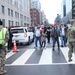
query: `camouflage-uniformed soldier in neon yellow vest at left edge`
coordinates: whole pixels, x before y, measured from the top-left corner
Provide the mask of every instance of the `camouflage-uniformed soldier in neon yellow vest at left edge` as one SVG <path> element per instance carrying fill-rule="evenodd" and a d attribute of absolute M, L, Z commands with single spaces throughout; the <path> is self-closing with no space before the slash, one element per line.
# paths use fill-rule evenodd
<path fill-rule="evenodd" d="M 3 23 L 0 20 L 0 74 L 4 74 L 7 71 L 4 70 L 7 46 L 8 46 L 9 33 L 6 28 L 3 27 Z"/>

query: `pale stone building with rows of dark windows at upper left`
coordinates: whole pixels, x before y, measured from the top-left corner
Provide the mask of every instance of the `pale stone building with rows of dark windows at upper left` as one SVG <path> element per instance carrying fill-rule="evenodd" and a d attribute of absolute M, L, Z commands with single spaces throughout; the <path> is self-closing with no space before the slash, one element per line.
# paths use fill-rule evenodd
<path fill-rule="evenodd" d="M 29 26 L 29 0 L 0 0 L 0 19 L 5 27 Z"/>

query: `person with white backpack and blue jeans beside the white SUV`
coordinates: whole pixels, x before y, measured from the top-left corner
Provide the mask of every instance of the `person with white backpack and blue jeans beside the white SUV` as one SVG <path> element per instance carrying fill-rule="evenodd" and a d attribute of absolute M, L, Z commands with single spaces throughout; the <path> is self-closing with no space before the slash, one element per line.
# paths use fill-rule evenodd
<path fill-rule="evenodd" d="M 40 48 L 42 48 L 42 41 L 41 41 L 41 30 L 40 25 L 38 25 L 35 29 L 35 48 L 37 48 L 37 42 L 39 41 Z"/>

